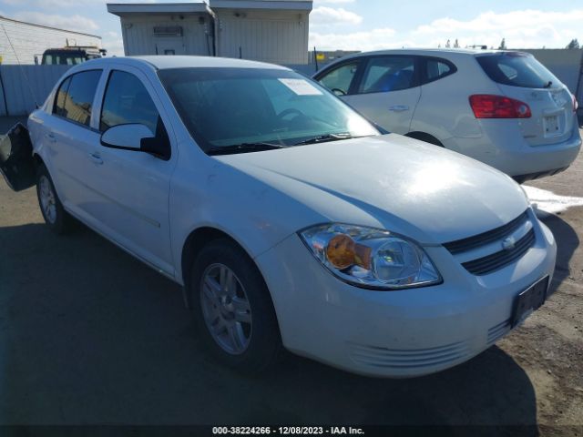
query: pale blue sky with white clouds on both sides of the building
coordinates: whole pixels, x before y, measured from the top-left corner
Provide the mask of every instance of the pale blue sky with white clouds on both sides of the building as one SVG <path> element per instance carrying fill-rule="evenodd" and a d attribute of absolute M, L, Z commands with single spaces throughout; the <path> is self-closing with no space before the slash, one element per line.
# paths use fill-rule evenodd
<path fill-rule="evenodd" d="M 583 42 L 580 0 L 314 0 L 313 7 L 310 46 L 319 50 L 436 47 L 456 38 L 460 46 L 498 46 L 504 37 L 514 48 Z M 99 35 L 109 54 L 123 54 L 119 19 L 104 0 L 0 0 L 0 15 Z"/>

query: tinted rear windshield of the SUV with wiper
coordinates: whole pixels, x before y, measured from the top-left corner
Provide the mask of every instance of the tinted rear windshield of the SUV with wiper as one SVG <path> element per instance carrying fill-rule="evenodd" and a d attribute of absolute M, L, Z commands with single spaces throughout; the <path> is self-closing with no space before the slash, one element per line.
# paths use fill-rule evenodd
<path fill-rule="evenodd" d="M 486 75 L 498 84 L 524 88 L 557 87 L 559 81 L 534 56 L 505 53 L 476 57 Z"/>

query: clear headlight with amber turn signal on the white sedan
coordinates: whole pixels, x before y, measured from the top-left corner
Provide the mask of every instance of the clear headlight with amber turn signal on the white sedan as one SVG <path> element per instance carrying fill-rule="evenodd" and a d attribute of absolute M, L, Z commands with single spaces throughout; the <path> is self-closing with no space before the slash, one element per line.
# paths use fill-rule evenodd
<path fill-rule="evenodd" d="M 332 223 L 300 236 L 327 269 L 359 287 L 399 290 L 441 282 L 424 249 L 388 230 Z"/>

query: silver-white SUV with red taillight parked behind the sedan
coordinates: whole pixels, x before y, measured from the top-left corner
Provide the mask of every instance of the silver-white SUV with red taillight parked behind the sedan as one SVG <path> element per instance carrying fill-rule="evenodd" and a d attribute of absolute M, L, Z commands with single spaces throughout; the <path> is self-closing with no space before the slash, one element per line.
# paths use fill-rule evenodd
<path fill-rule="evenodd" d="M 314 78 L 378 126 L 518 181 L 568 168 L 581 146 L 575 97 L 527 53 L 386 50 L 343 57 Z"/>

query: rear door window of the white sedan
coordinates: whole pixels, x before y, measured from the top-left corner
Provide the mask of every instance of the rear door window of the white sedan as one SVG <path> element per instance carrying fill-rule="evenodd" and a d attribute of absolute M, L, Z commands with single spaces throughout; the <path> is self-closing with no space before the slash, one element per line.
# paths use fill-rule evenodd
<path fill-rule="evenodd" d="M 83 71 L 68 77 L 56 93 L 53 113 L 88 127 L 99 77 L 101 70 Z"/>

